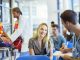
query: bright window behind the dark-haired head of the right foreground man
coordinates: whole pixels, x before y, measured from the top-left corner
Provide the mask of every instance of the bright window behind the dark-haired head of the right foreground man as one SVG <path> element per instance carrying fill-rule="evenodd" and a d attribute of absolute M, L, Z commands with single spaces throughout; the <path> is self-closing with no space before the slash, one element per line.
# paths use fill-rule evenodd
<path fill-rule="evenodd" d="M 57 0 L 59 1 L 59 3 L 57 5 L 59 5 L 59 17 L 60 17 L 60 13 L 62 13 L 64 10 L 72 10 L 73 9 L 73 0 Z M 58 18 L 59 18 L 58 17 Z M 61 20 L 58 19 L 58 24 L 60 26 L 60 32 L 62 33 L 62 30 L 64 29 L 64 26 L 61 23 Z"/>

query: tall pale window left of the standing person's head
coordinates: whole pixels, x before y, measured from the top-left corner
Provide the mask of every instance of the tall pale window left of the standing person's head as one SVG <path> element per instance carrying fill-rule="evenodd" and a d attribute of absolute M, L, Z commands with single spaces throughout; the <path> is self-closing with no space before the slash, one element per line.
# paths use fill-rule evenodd
<path fill-rule="evenodd" d="M 3 27 L 6 33 L 11 32 L 11 23 L 10 23 L 10 6 L 9 0 L 2 0 L 2 19 L 3 19 Z"/>

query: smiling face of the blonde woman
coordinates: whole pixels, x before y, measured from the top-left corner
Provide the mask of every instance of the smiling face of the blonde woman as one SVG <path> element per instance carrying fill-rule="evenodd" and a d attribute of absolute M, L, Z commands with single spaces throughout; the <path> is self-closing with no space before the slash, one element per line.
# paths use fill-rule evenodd
<path fill-rule="evenodd" d="M 44 38 L 48 34 L 48 27 L 46 25 L 41 25 L 38 28 L 38 37 Z"/>

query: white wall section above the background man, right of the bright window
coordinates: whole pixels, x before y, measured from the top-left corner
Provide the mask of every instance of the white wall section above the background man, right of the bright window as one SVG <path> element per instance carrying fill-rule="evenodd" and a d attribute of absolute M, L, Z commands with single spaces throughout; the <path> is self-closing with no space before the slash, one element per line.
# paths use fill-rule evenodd
<path fill-rule="evenodd" d="M 48 20 L 57 23 L 57 0 L 47 0 Z"/>

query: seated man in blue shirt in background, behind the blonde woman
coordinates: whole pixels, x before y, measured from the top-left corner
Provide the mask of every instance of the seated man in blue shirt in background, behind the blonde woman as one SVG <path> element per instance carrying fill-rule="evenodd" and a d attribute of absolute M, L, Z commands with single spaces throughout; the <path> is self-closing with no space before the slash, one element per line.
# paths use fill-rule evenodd
<path fill-rule="evenodd" d="M 50 37 L 53 48 L 59 51 L 65 47 L 65 38 L 59 33 L 59 26 L 57 24 L 51 24 L 52 35 Z"/>

